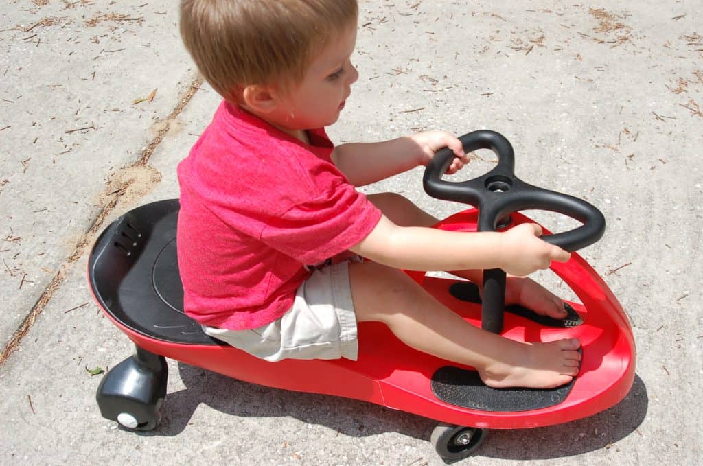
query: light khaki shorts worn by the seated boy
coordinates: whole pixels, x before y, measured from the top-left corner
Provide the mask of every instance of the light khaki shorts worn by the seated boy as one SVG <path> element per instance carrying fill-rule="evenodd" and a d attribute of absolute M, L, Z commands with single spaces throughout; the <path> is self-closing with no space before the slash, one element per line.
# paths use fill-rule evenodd
<path fill-rule="evenodd" d="M 338 359 L 356 361 L 356 314 L 349 262 L 317 268 L 295 293 L 291 309 L 277 321 L 252 330 L 202 325 L 211 337 L 266 361 Z"/>

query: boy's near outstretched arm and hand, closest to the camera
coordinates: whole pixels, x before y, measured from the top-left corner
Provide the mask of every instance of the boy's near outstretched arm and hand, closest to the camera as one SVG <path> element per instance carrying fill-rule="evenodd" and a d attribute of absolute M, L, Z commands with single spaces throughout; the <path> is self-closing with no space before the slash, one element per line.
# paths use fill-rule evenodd
<path fill-rule="evenodd" d="M 565 262 L 571 254 L 539 239 L 536 224 L 521 224 L 505 233 L 465 233 L 424 227 L 401 227 L 382 216 L 352 252 L 380 264 L 406 270 L 452 271 L 502 268 L 525 276 Z"/>

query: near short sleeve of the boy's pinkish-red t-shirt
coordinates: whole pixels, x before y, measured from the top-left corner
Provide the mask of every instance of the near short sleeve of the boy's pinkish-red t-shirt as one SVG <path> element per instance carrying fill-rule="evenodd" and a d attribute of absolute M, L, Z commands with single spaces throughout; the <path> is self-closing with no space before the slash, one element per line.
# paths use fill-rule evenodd
<path fill-rule="evenodd" d="M 261 240 L 303 264 L 316 264 L 366 238 L 380 218 L 363 193 L 339 183 L 270 220 Z"/>

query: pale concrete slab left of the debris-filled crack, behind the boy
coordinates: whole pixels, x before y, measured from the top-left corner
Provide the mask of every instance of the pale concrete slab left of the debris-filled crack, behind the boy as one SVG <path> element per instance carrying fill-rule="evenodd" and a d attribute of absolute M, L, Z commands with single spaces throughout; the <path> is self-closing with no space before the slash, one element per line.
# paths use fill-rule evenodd
<path fill-rule="evenodd" d="M 146 127 L 176 108 L 195 74 L 171 2 L 17 0 L 2 8 L 5 346 L 103 210 L 96 198 L 105 179 L 141 157 L 152 139 Z M 174 46 L 160 46 L 168 41 Z M 152 101 L 134 103 L 153 89 Z"/>

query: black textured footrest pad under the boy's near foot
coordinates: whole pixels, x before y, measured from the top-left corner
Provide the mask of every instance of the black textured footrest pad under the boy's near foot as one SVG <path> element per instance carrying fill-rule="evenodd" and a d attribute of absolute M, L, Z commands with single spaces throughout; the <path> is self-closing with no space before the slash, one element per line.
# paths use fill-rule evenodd
<path fill-rule="evenodd" d="M 512 413 L 548 408 L 564 401 L 576 377 L 555 389 L 494 389 L 486 386 L 475 370 L 451 365 L 432 375 L 432 391 L 445 403 L 494 413 Z"/>

